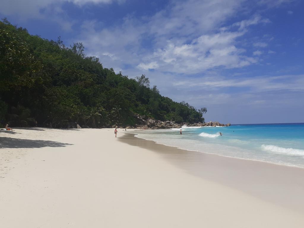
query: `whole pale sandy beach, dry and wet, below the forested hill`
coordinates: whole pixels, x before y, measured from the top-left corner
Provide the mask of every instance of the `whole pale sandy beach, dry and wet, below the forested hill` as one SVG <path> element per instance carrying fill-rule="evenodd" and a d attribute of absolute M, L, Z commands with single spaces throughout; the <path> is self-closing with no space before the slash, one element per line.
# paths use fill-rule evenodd
<path fill-rule="evenodd" d="M 3 227 L 303 227 L 304 169 L 180 150 L 134 130 L 0 132 Z"/>

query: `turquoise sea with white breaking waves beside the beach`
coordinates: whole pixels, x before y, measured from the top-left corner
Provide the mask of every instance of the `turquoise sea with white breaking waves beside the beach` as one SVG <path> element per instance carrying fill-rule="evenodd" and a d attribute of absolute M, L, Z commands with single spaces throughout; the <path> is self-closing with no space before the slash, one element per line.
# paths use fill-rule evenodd
<path fill-rule="evenodd" d="M 179 130 L 142 130 L 136 137 L 186 150 L 304 168 L 304 123 L 183 126 L 182 135 Z"/>

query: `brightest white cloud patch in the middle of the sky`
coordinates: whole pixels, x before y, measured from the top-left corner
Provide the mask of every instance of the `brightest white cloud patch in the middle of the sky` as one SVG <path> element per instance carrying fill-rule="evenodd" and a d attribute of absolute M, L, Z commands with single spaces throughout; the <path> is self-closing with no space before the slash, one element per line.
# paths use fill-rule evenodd
<path fill-rule="evenodd" d="M 254 58 L 243 55 L 244 50 L 233 43 L 242 36 L 242 32 L 220 32 L 202 35 L 190 44 L 177 45 L 171 41 L 164 48 L 158 49 L 153 56 L 163 71 L 176 73 L 198 73 L 213 67 L 244 67 L 256 63 Z"/>

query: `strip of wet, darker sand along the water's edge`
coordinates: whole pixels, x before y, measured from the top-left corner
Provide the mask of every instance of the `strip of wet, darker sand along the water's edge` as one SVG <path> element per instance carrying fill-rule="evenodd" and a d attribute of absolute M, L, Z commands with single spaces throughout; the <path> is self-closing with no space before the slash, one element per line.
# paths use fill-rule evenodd
<path fill-rule="evenodd" d="M 126 133 L 119 140 L 161 154 L 165 160 L 192 175 L 304 213 L 303 168 L 187 150 L 135 135 Z"/>

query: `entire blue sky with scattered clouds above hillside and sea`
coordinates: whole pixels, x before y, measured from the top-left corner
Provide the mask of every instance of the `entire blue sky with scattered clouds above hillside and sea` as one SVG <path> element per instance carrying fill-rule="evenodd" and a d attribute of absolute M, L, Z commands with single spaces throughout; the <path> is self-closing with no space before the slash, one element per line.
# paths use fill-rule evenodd
<path fill-rule="evenodd" d="M 2 0 L 1 18 L 66 46 L 205 121 L 304 122 L 302 0 Z"/>

